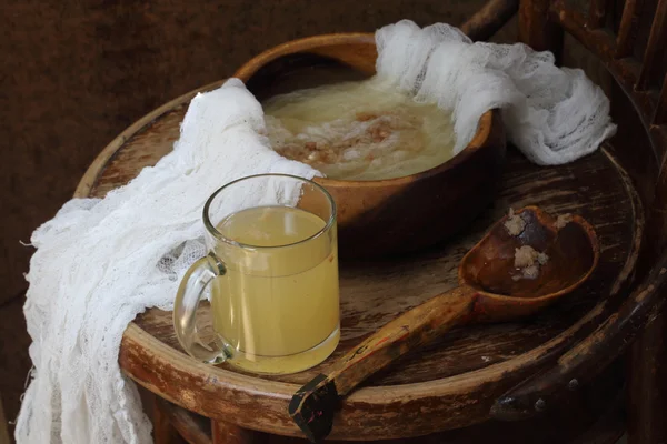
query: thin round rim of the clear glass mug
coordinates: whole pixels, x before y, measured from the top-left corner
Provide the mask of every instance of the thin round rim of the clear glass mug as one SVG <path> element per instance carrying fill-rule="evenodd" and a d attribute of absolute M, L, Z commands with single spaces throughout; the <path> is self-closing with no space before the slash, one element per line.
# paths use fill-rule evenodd
<path fill-rule="evenodd" d="M 210 206 L 213 202 L 213 200 L 218 196 L 218 194 L 220 194 L 222 191 L 227 190 L 228 188 L 239 183 L 239 182 L 245 182 L 251 179 L 258 179 L 258 178 L 286 178 L 286 179 L 296 179 L 300 182 L 313 185 L 315 189 L 319 190 L 326 198 L 327 198 L 327 202 L 329 202 L 329 208 L 331 209 L 331 214 L 329 215 L 329 220 L 327 220 L 327 222 L 325 223 L 325 226 L 322 226 L 319 231 L 317 231 L 316 233 L 309 235 L 306 239 L 301 239 L 300 241 L 297 242 L 292 242 L 292 243 L 286 243 L 286 244 L 280 244 L 280 245 L 270 245 L 270 246 L 261 246 L 261 245 L 252 245 L 252 244 L 248 244 L 248 243 L 243 243 L 243 242 L 239 242 L 239 241 L 235 241 L 233 239 L 227 238 L 222 233 L 220 233 L 217 229 L 216 225 L 213 223 L 211 223 L 211 220 L 209 218 L 209 210 Z M 236 179 L 229 183 L 226 183 L 225 185 L 220 186 L 218 190 L 216 190 L 206 201 L 206 204 L 203 205 L 203 225 L 206 228 L 206 230 L 213 236 L 216 238 L 216 240 L 225 242 L 228 245 L 232 245 L 232 246 L 238 246 L 240 249 L 247 249 L 247 250 L 272 250 L 272 249 L 283 249 L 287 246 L 293 246 L 293 245 L 299 245 L 306 242 L 310 242 L 312 240 L 316 240 L 318 238 L 320 238 L 321 235 L 323 235 L 325 233 L 327 233 L 330 229 L 331 225 L 334 225 L 336 223 L 336 218 L 337 218 L 337 208 L 336 208 L 336 201 L 334 200 L 334 198 L 331 196 L 331 194 L 329 193 L 329 191 L 327 191 L 326 188 L 323 188 L 322 185 L 320 185 L 319 183 L 310 180 L 310 179 L 306 179 L 306 178 L 300 178 L 298 175 L 293 175 L 293 174 L 283 174 L 283 173 L 261 173 L 261 174 L 252 174 L 252 175 L 246 175 L 239 179 Z"/>

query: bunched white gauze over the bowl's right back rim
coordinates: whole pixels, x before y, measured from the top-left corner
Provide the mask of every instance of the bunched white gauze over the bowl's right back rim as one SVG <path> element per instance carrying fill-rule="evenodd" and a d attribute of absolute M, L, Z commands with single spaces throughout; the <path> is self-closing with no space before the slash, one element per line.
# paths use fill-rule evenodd
<path fill-rule="evenodd" d="M 522 43 L 472 43 L 459 29 L 409 20 L 376 32 L 378 75 L 452 111 L 455 152 L 475 135 L 481 114 L 500 108 L 509 140 L 532 162 L 555 165 L 597 150 L 616 133 L 609 100 L 580 69 Z"/>

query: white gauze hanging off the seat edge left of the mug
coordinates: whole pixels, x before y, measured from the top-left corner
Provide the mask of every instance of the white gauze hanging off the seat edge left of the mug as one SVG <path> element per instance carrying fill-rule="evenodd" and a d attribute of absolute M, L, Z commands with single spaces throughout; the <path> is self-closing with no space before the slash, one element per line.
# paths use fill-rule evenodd
<path fill-rule="evenodd" d="M 171 310 L 185 270 L 205 254 L 201 209 L 246 175 L 303 178 L 310 167 L 278 155 L 261 105 L 238 79 L 197 95 L 173 151 L 104 199 L 74 199 L 32 234 L 24 306 L 32 381 L 18 443 L 151 443 L 135 384 L 118 352 L 147 307 Z M 239 193 L 230 209 L 259 193 Z"/>

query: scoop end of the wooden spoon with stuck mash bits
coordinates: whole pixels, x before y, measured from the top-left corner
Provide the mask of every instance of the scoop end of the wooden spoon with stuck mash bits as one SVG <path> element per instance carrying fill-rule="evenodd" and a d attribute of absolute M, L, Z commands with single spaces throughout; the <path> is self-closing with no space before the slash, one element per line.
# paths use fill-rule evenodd
<path fill-rule="evenodd" d="M 554 218 L 537 206 L 515 213 L 525 226 L 512 235 L 509 216 L 496 222 L 462 259 L 459 284 L 478 294 L 474 316 L 502 321 L 531 314 L 581 285 L 597 266 L 599 243 L 578 215 Z M 515 266 L 517 250 L 529 246 L 548 258 L 534 279 Z"/>

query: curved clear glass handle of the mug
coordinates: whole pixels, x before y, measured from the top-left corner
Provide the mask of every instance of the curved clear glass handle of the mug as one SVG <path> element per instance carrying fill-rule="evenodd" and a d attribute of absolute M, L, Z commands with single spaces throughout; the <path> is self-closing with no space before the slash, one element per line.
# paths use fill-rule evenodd
<path fill-rule="evenodd" d="M 173 302 L 173 330 L 183 350 L 198 361 L 220 364 L 231 357 L 232 349 L 219 334 L 203 343 L 197 332 L 197 307 L 207 286 L 227 269 L 213 253 L 197 260 L 180 282 Z"/>

